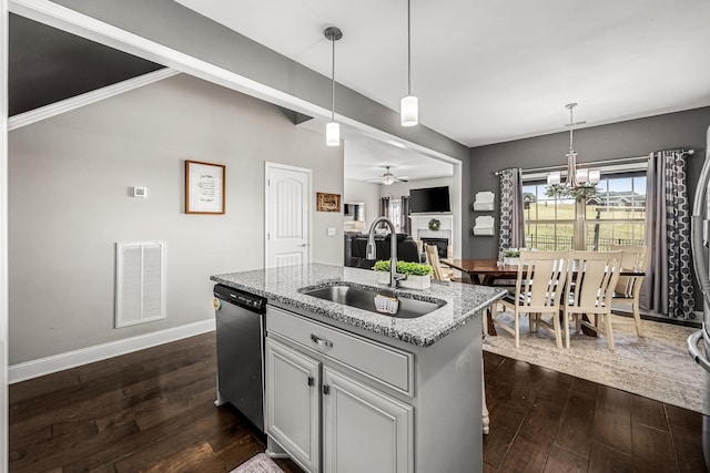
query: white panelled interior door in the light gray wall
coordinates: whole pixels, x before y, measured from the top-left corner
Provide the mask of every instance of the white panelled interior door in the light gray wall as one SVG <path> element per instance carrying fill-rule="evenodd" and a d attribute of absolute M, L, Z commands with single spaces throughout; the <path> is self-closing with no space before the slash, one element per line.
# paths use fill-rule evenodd
<path fill-rule="evenodd" d="M 267 268 L 311 263 L 311 169 L 266 163 Z"/>

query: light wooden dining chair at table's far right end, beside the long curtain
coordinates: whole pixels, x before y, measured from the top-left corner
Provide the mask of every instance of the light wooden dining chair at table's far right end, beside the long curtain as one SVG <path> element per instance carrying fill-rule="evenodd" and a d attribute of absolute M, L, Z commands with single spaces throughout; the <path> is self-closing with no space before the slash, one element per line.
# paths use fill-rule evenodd
<path fill-rule="evenodd" d="M 610 246 L 612 251 L 621 251 L 621 268 L 646 270 L 647 249 L 646 246 Z M 636 325 L 636 333 L 643 337 L 643 327 L 641 326 L 641 315 L 639 311 L 639 298 L 641 295 L 641 284 L 643 276 L 619 276 L 619 280 L 613 289 L 611 298 L 611 312 L 619 310 L 619 305 L 631 304 L 633 311 L 633 323 Z M 616 307 L 615 307 L 616 306 Z"/>

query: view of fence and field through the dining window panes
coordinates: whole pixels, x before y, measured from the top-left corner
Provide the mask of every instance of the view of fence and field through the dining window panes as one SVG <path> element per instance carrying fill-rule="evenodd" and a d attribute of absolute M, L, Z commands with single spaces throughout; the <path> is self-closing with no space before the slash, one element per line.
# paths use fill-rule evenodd
<path fill-rule="evenodd" d="M 525 183 L 526 247 L 541 250 L 574 249 L 575 200 L 545 195 L 546 183 Z M 586 199 L 586 249 L 608 250 L 610 245 L 643 245 L 646 176 L 602 178 L 597 195 Z"/>

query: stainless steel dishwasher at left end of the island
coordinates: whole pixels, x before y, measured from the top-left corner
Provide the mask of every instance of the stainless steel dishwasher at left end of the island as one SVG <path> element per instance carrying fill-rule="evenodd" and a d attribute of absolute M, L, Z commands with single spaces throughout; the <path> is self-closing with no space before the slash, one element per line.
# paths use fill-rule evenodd
<path fill-rule="evenodd" d="M 264 313 L 261 296 L 214 286 L 217 400 L 234 405 L 264 432 Z"/>

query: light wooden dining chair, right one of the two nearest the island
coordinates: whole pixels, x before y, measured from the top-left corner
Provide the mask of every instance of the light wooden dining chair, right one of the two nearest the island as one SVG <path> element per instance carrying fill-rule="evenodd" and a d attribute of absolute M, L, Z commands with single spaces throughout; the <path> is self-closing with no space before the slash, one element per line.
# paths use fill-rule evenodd
<path fill-rule="evenodd" d="M 613 351 L 611 297 L 619 280 L 621 251 L 572 251 L 567 265 L 568 278 L 562 304 L 565 346 L 569 348 L 569 321 L 577 332 L 585 326 L 607 338 Z M 594 323 L 584 316 L 594 317 Z"/>

